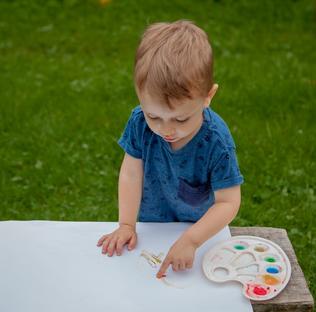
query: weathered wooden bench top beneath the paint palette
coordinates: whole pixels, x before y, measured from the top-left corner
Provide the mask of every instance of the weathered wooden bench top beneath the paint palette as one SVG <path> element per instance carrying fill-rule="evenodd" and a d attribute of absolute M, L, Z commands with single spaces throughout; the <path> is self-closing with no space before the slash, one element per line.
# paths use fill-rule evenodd
<path fill-rule="evenodd" d="M 270 300 L 251 300 L 254 312 L 268 311 L 312 311 L 314 308 L 313 297 L 307 287 L 304 274 L 297 262 L 294 249 L 286 230 L 262 227 L 230 227 L 232 236 L 251 235 L 269 239 L 278 244 L 287 254 L 292 274 L 289 283 L 283 291 Z"/>

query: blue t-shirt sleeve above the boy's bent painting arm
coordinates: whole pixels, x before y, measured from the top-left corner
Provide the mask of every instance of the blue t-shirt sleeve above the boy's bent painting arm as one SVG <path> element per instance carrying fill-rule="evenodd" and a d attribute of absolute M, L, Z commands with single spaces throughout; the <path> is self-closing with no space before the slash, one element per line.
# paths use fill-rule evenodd
<path fill-rule="evenodd" d="M 243 183 L 236 158 L 235 148 L 229 147 L 217 154 L 216 162 L 210 171 L 210 184 L 213 191 Z"/>

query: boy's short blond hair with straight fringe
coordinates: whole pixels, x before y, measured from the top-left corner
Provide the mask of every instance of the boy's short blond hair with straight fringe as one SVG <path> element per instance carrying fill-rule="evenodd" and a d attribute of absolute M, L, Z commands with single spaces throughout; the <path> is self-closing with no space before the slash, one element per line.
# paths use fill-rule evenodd
<path fill-rule="evenodd" d="M 170 98 L 206 96 L 214 85 L 207 34 L 187 20 L 149 25 L 136 50 L 134 82 L 169 108 Z"/>

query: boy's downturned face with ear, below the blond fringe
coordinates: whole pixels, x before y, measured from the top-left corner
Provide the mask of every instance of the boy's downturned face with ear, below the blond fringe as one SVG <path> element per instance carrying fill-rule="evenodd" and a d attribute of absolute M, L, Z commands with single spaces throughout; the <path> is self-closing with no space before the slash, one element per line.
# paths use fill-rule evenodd
<path fill-rule="evenodd" d="M 180 149 L 198 132 L 203 123 L 203 109 L 209 106 L 218 85 L 210 90 L 206 97 L 194 99 L 170 99 L 174 110 L 158 103 L 147 91 L 141 93 L 136 89 L 141 109 L 148 127 L 165 141 L 171 148 Z"/>

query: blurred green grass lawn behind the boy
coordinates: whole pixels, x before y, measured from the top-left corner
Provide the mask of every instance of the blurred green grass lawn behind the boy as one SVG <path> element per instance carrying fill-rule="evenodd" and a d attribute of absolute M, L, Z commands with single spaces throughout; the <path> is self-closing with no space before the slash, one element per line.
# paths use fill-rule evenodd
<path fill-rule="evenodd" d="M 149 23 L 209 35 L 244 184 L 234 226 L 285 228 L 316 298 L 314 1 L 0 2 L 0 220 L 117 221 L 117 144 Z"/>

